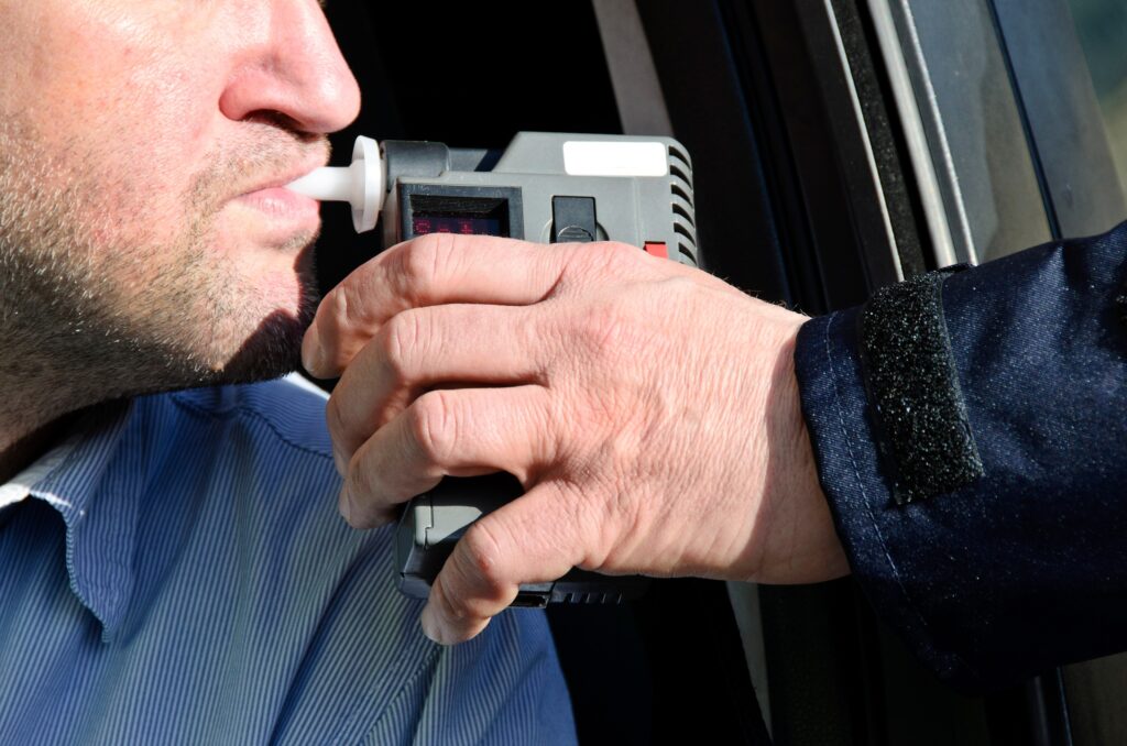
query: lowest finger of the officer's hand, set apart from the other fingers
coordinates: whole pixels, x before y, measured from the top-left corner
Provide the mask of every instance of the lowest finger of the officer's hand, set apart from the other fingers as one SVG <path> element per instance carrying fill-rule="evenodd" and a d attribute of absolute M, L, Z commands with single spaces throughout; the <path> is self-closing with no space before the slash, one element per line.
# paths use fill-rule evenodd
<path fill-rule="evenodd" d="M 554 580 L 578 565 L 585 547 L 575 498 L 559 482 L 542 482 L 470 526 L 431 586 L 424 633 L 442 645 L 477 637 L 522 584 Z"/>

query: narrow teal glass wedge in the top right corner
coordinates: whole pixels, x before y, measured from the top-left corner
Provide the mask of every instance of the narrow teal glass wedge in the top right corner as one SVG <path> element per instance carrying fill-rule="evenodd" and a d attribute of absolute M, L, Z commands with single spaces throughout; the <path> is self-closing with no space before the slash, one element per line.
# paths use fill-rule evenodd
<path fill-rule="evenodd" d="M 1100 99 L 1119 180 L 1127 190 L 1127 2 L 1068 0 Z"/>

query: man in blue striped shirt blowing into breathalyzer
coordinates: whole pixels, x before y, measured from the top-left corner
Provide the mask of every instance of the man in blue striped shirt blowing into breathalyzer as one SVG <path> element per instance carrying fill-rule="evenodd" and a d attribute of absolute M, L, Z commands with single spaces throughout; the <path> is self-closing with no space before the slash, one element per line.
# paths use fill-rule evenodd
<path fill-rule="evenodd" d="M 312 317 L 317 206 L 278 187 L 360 106 L 318 3 L 0 29 L 3 740 L 574 740 L 543 618 L 426 640 L 389 533 L 335 514 L 323 398 L 231 385 Z"/>

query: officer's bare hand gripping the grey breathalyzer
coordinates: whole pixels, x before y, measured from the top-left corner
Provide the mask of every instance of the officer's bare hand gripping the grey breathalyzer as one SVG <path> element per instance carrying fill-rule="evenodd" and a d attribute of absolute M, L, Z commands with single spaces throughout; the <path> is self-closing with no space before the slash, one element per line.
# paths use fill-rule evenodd
<path fill-rule="evenodd" d="M 446 476 L 526 495 L 458 543 L 423 614 L 469 639 L 522 583 L 609 574 L 802 583 L 848 571 L 792 353 L 804 317 L 615 243 L 429 236 L 354 272 L 303 357 L 353 526 Z"/>

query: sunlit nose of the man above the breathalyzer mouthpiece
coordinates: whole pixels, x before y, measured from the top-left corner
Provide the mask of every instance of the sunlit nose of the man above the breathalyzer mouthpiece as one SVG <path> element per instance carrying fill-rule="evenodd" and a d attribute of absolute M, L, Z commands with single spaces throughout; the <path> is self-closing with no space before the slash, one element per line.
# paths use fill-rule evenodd
<path fill-rule="evenodd" d="M 242 36 L 254 39 L 252 48 L 220 98 L 223 114 L 241 121 L 278 113 L 313 134 L 348 126 L 360 114 L 360 87 L 317 0 L 252 5 L 255 18 L 242 19 Z"/>

